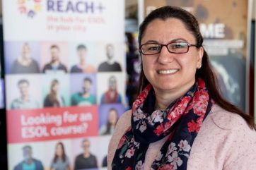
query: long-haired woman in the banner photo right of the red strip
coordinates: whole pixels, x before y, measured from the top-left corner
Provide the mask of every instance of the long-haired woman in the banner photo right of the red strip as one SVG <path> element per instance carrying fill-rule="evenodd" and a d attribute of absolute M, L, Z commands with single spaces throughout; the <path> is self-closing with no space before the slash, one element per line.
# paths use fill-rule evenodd
<path fill-rule="evenodd" d="M 115 108 L 110 108 L 107 114 L 107 123 L 100 128 L 100 135 L 112 135 L 117 125 L 118 114 Z"/>

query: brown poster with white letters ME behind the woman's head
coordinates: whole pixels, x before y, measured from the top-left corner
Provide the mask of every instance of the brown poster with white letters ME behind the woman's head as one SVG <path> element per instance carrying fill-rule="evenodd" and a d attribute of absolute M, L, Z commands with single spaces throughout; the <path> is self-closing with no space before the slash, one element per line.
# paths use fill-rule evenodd
<path fill-rule="evenodd" d="M 248 1 L 146 0 L 144 16 L 165 5 L 196 16 L 223 96 L 245 111 Z"/>

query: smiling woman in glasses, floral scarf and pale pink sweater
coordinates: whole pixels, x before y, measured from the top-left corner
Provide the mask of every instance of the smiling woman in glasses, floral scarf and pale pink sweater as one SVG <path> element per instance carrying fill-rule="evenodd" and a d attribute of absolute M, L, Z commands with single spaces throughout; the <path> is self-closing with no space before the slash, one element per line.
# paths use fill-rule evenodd
<path fill-rule="evenodd" d="M 181 8 L 141 23 L 141 93 L 117 123 L 108 169 L 256 169 L 255 124 L 221 97 L 202 44 Z"/>

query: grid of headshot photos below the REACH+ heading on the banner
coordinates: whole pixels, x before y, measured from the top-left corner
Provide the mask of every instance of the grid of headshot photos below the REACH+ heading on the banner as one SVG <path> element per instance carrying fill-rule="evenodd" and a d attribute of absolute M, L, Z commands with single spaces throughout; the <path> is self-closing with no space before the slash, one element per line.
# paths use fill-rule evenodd
<path fill-rule="evenodd" d="M 127 105 L 124 94 L 124 60 L 116 56 L 115 49 L 120 45 L 95 44 L 102 46 L 100 49 L 104 50 L 99 52 L 91 48 L 94 44 L 90 43 L 5 42 L 5 44 L 5 52 L 8 56 L 5 61 L 6 86 L 12 89 L 6 91 L 6 109 L 9 119 L 19 114 L 24 122 L 17 126 L 25 127 L 22 128 L 20 141 L 9 138 L 12 144 L 8 145 L 8 150 L 18 152 L 15 157 L 12 155 L 8 158 L 11 162 L 10 169 L 18 170 L 22 166 L 27 166 L 24 164 L 25 160 L 33 161 L 33 166 L 39 170 L 106 167 L 108 142 L 117 120 L 124 113 Z M 95 55 L 101 56 L 95 57 Z M 62 112 L 61 109 L 78 112 L 78 108 L 95 110 L 92 114 L 94 120 L 91 124 L 86 124 L 94 128 L 91 133 L 85 131 L 80 135 L 70 136 L 65 132 L 60 133 L 61 128 L 56 128 L 59 131 L 49 133 L 49 129 L 53 129 L 50 128 L 52 126 L 46 128 L 38 126 L 44 123 L 50 125 L 53 123 L 53 118 L 56 117 L 57 120 L 58 116 L 64 121 L 66 112 Z M 57 113 L 58 111 L 60 114 Z M 82 116 L 80 114 L 79 117 L 79 112 L 77 117 L 81 121 Z M 43 119 L 46 120 L 44 123 L 36 123 Z M 48 119 L 52 122 L 47 122 Z M 69 125 L 58 121 L 54 123 L 58 127 Z M 90 127 L 87 128 L 89 129 Z M 45 133 L 42 133 L 43 131 Z M 62 135 L 56 136 L 58 132 Z M 101 147 L 99 148 L 98 145 Z M 44 152 L 44 150 L 51 151 Z"/>

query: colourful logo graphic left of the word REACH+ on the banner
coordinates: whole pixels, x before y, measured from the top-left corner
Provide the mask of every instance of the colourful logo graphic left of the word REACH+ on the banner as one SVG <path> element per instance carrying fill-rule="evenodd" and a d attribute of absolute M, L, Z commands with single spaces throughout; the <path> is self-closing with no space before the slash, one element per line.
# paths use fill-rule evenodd
<path fill-rule="evenodd" d="M 22 15 L 33 18 L 41 11 L 42 0 L 17 0 L 18 10 Z"/>

